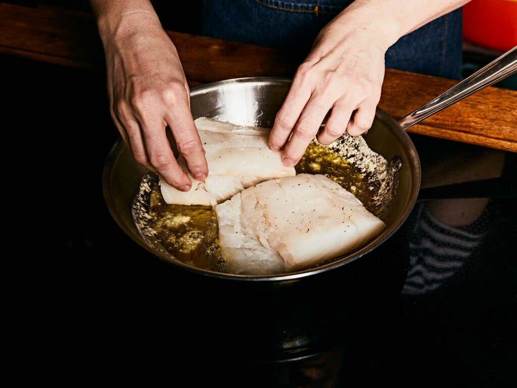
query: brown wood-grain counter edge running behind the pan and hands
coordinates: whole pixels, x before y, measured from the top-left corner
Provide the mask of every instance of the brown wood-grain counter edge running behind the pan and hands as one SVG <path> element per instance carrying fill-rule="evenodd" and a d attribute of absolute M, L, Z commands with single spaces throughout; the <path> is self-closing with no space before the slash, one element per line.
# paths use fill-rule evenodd
<path fill-rule="evenodd" d="M 237 77 L 291 77 L 301 58 L 238 42 L 168 31 L 191 86 Z M 104 70 L 89 13 L 0 3 L 0 53 Z M 400 118 L 455 81 L 386 69 L 379 107 Z M 437 138 L 517 152 L 517 92 L 488 87 L 409 129 Z"/>

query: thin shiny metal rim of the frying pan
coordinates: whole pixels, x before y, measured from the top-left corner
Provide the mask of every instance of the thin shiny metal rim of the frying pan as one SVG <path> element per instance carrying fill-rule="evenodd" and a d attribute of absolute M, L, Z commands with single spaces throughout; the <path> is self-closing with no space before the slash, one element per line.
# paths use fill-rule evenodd
<path fill-rule="evenodd" d="M 214 88 L 218 88 L 221 85 L 227 85 L 227 84 L 239 84 L 239 83 L 258 83 L 263 84 L 265 82 L 268 83 L 291 83 L 291 80 L 288 78 L 277 78 L 277 77 L 245 77 L 245 78 L 234 78 L 229 80 L 223 80 L 218 82 L 212 82 L 205 85 L 199 85 L 195 86 L 190 91 L 190 96 L 195 96 L 199 94 L 203 94 L 206 92 L 209 92 L 210 90 Z M 377 235 L 372 241 L 370 241 L 367 245 L 361 247 L 359 250 L 348 253 L 348 255 L 344 255 L 338 258 L 333 259 L 331 262 L 323 264 L 321 266 L 309 268 L 306 270 L 296 271 L 296 272 L 290 272 L 286 274 L 277 274 L 277 275 L 238 275 L 238 274 L 226 274 L 216 271 L 209 271 L 204 270 L 202 268 L 196 268 L 192 267 L 188 264 L 185 264 L 179 260 L 173 260 L 169 257 L 161 254 L 160 252 L 157 252 L 156 250 L 149 247 L 144 241 L 139 241 L 136 238 L 133 238 L 132 231 L 130 231 L 122 222 L 118 215 L 114 211 L 114 203 L 113 203 L 113 197 L 109 195 L 110 193 L 110 181 L 111 181 L 111 175 L 112 175 L 112 168 L 115 165 L 115 161 L 120 155 L 120 153 L 125 148 L 125 143 L 122 141 L 121 138 L 119 138 L 113 147 L 111 148 L 109 154 L 107 155 L 104 167 L 102 171 L 102 192 L 104 196 L 104 201 L 107 204 L 108 210 L 110 211 L 111 216 L 116 221 L 118 226 L 128 235 L 128 237 L 133 240 L 133 242 L 137 243 L 141 247 L 145 248 L 148 252 L 152 253 L 154 256 L 160 258 L 161 260 L 164 260 L 172 265 L 184 268 L 192 273 L 196 273 L 199 275 L 208 276 L 211 278 L 219 278 L 219 279 L 226 279 L 226 280 L 235 280 L 235 281 L 254 281 L 254 282 L 285 282 L 290 280 L 298 280 L 301 278 L 305 278 L 308 276 L 325 273 L 327 271 L 333 270 L 334 268 L 341 267 L 343 265 L 346 265 L 348 263 L 351 263 L 364 255 L 367 255 L 372 250 L 386 242 L 399 228 L 403 225 L 403 223 L 406 221 L 407 217 L 413 210 L 413 207 L 415 206 L 415 203 L 417 201 L 418 192 L 420 189 L 420 182 L 421 182 L 421 168 L 420 168 L 420 159 L 418 157 L 418 153 L 416 151 L 415 145 L 413 144 L 413 141 L 409 138 L 406 131 L 402 129 L 402 127 L 397 123 L 396 120 L 394 120 L 393 117 L 391 117 L 389 114 L 384 112 L 380 108 L 376 108 L 375 117 L 379 118 L 382 122 L 387 123 L 390 126 L 394 126 L 398 129 L 397 135 L 403 141 L 408 148 L 408 154 L 411 157 L 412 165 L 409 166 L 409 168 L 412 170 L 412 175 L 414 175 L 414 179 L 411 182 L 412 187 L 410 187 L 410 197 L 408 199 L 408 202 L 406 206 L 403 208 L 403 211 L 399 215 L 399 217 L 393 222 L 393 224 L 384 230 L 381 234 Z"/>

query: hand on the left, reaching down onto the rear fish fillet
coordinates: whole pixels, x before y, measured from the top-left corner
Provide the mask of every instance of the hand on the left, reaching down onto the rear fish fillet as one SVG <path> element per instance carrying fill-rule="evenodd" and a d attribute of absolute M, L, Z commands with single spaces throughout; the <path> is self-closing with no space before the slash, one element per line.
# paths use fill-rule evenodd
<path fill-rule="evenodd" d="M 166 137 L 169 125 L 192 176 L 208 175 L 203 146 L 190 113 L 189 86 L 178 53 L 156 17 L 123 16 L 103 39 L 111 116 L 139 163 L 182 191 L 190 178 L 176 162 Z"/>

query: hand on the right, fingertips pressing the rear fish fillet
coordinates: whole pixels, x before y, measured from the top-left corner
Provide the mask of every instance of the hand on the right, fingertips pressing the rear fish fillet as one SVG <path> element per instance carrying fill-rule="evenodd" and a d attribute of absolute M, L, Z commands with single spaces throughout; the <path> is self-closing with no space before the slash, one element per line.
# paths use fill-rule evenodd
<path fill-rule="evenodd" d="M 339 16 L 318 35 L 269 136 L 271 150 L 284 148 L 284 165 L 296 165 L 316 134 L 318 142 L 330 144 L 345 130 L 357 136 L 371 127 L 389 47 L 379 35 L 378 29 Z"/>

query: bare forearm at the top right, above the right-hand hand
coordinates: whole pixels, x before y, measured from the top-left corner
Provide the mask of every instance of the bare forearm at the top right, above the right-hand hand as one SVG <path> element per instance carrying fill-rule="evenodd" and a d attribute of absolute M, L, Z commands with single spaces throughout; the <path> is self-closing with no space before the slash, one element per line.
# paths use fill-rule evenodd
<path fill-rule="evenodd" d="M 402 36 L 469 0 L 356 0 L 337 17 L 343 25 L 370 30 L 386 49 Z"/>

